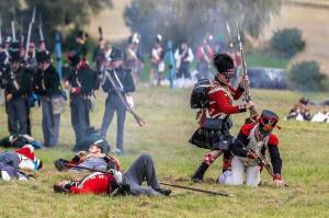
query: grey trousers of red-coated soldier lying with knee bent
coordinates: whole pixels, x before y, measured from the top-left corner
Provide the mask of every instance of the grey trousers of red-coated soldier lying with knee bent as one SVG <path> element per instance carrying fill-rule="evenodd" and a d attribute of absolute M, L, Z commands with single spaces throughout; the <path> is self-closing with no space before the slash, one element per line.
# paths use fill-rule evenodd
<path fill-rule="evenodd" d="M 143 181 L 147 182 L 147 187 L 141 186 Z M 152 158 L 149 154 L 139 156 L 124 173 L 123 184 L 129 185 L 133 195 L 158 195 L 156 190 L 159 188 L 159 183 Z"/>

